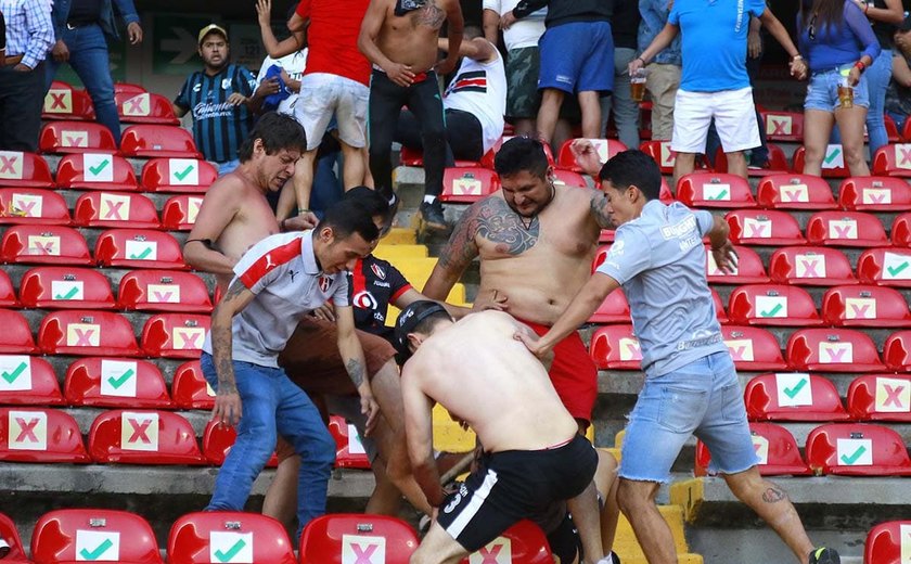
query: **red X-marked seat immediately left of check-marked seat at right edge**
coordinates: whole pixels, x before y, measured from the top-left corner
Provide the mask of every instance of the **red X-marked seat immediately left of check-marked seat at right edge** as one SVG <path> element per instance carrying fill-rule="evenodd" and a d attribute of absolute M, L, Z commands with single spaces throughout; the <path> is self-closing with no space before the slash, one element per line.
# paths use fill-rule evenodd
<path fill-rule="evenodd" d="M 857 284 L 848 257 L 837 248 L 790 246 L 769 258 L 769 274 L 778 284 L 832 286 Z"/>

